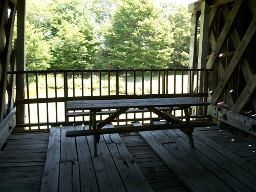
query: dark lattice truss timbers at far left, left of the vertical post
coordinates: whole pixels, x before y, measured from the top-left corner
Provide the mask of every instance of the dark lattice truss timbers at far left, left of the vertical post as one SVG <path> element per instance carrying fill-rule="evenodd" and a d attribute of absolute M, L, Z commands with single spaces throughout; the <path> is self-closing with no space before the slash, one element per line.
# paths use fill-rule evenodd
<path fill-rule="evenodd" d="M 15 76 L 7 75 L 9 69 L 16 71 L 16 49 L 12 45 L 14 21 L 16 15 L 16 2 L 4 0 L 0 7 L 0 121 L 2 121 L 14 106 L 14 83 Z M 6 106 L 6 93 L 8 105 Z"/>

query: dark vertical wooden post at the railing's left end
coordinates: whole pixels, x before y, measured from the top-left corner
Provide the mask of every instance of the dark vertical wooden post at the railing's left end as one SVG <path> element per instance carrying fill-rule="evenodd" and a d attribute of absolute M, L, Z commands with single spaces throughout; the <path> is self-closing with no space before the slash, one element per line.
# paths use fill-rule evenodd
<path fill-rule="evenodd" d="M 17 71 L 25 71 L 25 16 L 26 16 L 26 1 L 17 1 Z M 25 74 L 20 74 L 18 76 L 18 87 L 19 92 L 17 93 L 18 99 L 25 98 Z M 18 124 L 23 124 L 25 122 L 25 105 L 18 105 L 17 108 Z"/>

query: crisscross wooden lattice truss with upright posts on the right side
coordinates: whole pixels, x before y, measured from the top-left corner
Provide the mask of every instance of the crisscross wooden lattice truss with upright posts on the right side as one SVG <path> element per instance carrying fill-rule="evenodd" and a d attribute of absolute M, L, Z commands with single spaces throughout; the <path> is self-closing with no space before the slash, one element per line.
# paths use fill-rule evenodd
<path fill-rule="evenodd" d="M 209 102 L 224 101 L 229 111 L 241 114 L 247 109 L 255 114 L 256 59 L 250 53 L 256 48 L 256 1 L 198 1 L 189 5 L 188 12 L 192 13 L 189 69 L 197 63 L 198 68 L 215 70 Z M 217 117 L 212 111 L 210 115 Z M 245 131 L 251 133 L 249 128 Z"/>

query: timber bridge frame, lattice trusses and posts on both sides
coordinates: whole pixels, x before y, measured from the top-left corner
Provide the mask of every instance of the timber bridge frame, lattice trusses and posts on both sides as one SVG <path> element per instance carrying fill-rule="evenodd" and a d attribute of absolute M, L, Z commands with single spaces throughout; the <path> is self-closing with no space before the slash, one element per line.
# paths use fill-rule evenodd
<path fill-rule="evenodd" d="M 17 40 L 13 46 L 16 12 Z M 208 114 L 255 140 L 256 1 L 202 0 L 190 4 L 188 12 L 192 16 L 188 68 L 214 69 L 210 82 L 198 74 L 202 79 L 199 87 L 209 85 Z M 25 70 L 25 0 L 1 1 L 0 14 L 0 121 L 1 130 L 9 132 L 16 121 L 22 124 L 25 116 L 21 105 L 14 108 L 13 99 L 15 84 L 16 98 L 24 98 L 24 76 L 8 76 L 9 71 Z"/>

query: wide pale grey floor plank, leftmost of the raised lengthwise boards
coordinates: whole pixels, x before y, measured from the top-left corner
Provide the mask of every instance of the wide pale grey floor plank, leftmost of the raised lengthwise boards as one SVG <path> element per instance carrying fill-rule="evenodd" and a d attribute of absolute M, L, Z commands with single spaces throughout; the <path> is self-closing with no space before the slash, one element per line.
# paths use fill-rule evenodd
<path fill-rule="evenodd" d="M 59 181 L 60 127 L 51 127 L 41 192 L 56 192 Z"/>

